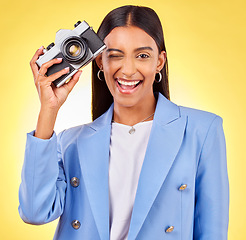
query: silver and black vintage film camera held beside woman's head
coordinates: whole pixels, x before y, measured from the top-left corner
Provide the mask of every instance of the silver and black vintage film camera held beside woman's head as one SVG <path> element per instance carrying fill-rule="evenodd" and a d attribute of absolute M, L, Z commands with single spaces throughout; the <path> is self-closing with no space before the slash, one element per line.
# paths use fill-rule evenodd
<path fill-rule="evenodd" d="M 96 35 L 93 29 L 85 22 L 77 22 L 73 30 L 60 29 L 56 33 L 55 44 L 51 43 L 44 49 L 36 61 L 39 67 L 53 58 L 62 58 L 60 64 L 48 68 L 46 75 L 50 76 L 63 68 L 69 67 L 70 71 L 53 81 L 56 87 L 62 86 L 83 66 L 99 55 L 106 45 Z"/>

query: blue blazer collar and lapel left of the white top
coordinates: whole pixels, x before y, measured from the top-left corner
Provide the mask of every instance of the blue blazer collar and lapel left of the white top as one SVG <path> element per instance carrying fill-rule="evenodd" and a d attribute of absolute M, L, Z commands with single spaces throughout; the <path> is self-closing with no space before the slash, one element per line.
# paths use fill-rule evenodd
<path fill-rule="evenodd" d="M 100 238 L 109 239 L 108 162 L 113 105 L 78 138 L 82 176 Z"/>

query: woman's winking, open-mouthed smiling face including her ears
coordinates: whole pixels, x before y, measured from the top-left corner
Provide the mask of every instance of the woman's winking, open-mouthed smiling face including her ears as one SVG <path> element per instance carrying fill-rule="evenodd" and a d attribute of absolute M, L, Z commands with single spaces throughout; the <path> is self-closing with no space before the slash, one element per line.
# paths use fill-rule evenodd
<path fill-rule="evenodd" d="M 145 106 L 153 101 L 155 75 L 165 63 L 154 39 L 142 29 L 116 27 L 104 39 L 107 46 L 97 61 L 118 106 Z"/>

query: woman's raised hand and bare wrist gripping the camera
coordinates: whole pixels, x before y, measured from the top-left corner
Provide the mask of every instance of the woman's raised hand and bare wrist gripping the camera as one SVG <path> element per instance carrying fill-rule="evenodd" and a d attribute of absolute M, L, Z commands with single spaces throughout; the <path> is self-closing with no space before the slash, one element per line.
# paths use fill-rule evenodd
<path fill-rule="evenodd" d="M 66 101 L 68 94 L 72 91 L 75 84 L 78 82 L 81 71 L 73 75 L 68 83 L 65 83 L 59 88 L 53 85 L 53 81 L 60 76 L 68 73 L 69 69 L 62 69 L 48 77 L 45 76 L 49 67 L 53 64 L 59 64 L 62 59 L 56 58 L 44 63 L 40 69 L 36 64 L 38 57 L 43 54 L 43 47 L 39 48 L 34 54 L 30 65 L 41 102 L 41 109 L 38 117 L 38 123 L 35 131 L 35 137 L 49 139 L 53 134 L 53 129 L 56 121 L 58 110 Z"/>

